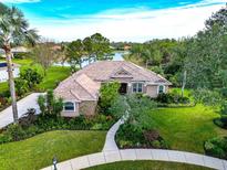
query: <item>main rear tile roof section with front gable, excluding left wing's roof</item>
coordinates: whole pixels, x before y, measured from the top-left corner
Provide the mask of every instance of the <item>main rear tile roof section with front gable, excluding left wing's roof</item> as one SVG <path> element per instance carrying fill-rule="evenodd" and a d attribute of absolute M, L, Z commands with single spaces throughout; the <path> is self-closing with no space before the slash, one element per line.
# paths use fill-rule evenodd
<path fill-rule="evenodd" d="M 132 78 L 132 82 L 172 85 L 163 76 L 125 61 L 99 61 L 76 72 L 74 76 L 85 74 L 93 81 L 107 82 L 114 78 Z"/>

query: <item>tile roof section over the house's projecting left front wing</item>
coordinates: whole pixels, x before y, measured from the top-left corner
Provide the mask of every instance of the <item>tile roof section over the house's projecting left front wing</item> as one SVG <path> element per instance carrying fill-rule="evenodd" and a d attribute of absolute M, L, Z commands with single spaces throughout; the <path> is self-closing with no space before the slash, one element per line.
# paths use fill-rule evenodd
<path fill-rule="evenodd" d="M 71 100 L 97 100 L 100 83 L 92 81 L 85 74 L 72 75 L 63 81 L 54 93 L 63 99 Z"/>

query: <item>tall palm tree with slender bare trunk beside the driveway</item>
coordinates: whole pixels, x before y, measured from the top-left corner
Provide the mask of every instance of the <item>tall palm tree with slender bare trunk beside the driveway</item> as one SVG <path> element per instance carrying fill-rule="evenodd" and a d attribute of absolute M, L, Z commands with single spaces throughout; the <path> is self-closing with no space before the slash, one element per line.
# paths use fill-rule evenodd
<path fill-rule="evenodd" d="M 35 30 L 29 30 L 29 24 L 24 19 L 23 13 L 16 7 L 7 7 L 0 3 L 0 47 L 6 52 L 10 94 L 12 99 L 13 120 L 18 123 L 18 108 L 13 79 L 13 65 L 11 46 L 24 44 L 25 42 L 34 45 L 39 36 Z"/>

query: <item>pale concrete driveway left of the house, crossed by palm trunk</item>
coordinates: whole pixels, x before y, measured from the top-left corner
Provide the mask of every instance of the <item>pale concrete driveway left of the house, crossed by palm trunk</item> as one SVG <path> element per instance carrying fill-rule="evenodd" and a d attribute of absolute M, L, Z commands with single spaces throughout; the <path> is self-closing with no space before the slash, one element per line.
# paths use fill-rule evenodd
<path fill-rule="evenodd" d="M 29 108 L 35 108 L 37 114 L 40 114 L 39 105 L 37 104 L 37 99 L 43 93 L 33 93 L 21 100 L 18 102 L 18 116 L 19 118 L 27 113 Z M 6 127 L 7 125 L 13 123 L 12 116 L 12 107 L 8 107 L 4 110 L 0 111 L 0 129 Z"/>

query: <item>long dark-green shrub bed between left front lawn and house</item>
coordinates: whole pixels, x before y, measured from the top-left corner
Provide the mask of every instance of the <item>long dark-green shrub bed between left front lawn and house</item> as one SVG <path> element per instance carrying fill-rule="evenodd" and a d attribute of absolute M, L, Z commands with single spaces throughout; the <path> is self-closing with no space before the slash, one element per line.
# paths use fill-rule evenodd
<path fill-rule="evenodd" d="M 0 144 L 22 140 L 50 130 L 107 130 L 115 123 L 115 119 L 104 115 L 75 118 L 34 116 L 31 109 L 25 116 L 19 119 L 19 124 L 11 124 L 0 132 Z"/>

